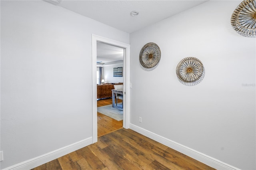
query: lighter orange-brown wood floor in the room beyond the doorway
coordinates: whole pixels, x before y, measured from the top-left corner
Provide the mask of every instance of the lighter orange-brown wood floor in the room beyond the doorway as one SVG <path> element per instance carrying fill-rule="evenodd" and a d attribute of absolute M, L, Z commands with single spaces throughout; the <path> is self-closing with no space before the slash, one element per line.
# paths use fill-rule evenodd
<path fill-rule="evenodd" d="M 122 102 L 122 100 L 118 99 L 118 102 Z M 97 107 L 110 105 L 112 104 L 112 99 L 102 99 L 97 101 Z M 123 121 L 117 121 L 97 112 L 98 115 L 98 137 L 103 136 L 105 134 L 114 132 L 123 127 Z"/>

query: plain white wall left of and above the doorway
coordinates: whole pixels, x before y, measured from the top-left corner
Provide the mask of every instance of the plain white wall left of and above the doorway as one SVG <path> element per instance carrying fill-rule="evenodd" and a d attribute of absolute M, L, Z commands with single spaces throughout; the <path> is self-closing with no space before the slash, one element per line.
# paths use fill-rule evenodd
<path fill-rule="evenodd" d="M 129 34 L 44 1 L 1 1 L 1 168 L 92 138 L 92 34 Z"/>

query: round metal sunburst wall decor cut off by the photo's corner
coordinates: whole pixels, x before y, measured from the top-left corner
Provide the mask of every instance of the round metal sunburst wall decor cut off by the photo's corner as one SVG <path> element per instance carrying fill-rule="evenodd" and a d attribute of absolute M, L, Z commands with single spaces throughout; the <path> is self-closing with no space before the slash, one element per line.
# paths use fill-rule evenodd
<path fill-rule="evenodd" d="M 244 0 L 234 10 L 231 25 L 243 36 L 256 35 L 256 0 Z"/>

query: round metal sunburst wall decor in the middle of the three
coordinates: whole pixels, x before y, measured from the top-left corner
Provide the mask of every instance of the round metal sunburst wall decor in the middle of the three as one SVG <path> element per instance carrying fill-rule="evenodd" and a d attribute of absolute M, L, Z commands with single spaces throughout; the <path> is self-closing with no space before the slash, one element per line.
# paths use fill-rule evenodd
<path fill-rule="evenodd" d="M 177 67 L 178 80 L 184 85 L 196 85 L 204 78 L 204 65 L 195 57 L 182 59 Z"/>

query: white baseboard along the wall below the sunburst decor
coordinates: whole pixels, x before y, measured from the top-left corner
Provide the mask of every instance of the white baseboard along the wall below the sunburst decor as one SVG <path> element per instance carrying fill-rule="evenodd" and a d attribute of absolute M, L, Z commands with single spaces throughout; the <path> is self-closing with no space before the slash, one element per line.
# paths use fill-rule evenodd
<path fill-rule="evenodd" d="M 130 124 L 130 129 L 132 129 L 140 134 L 143 134 L 144 136 L 147 136 L 148 138 L 156 140 L 157 142 L 160 142 L 170 148 L 173 148 L 174 150 L 177 150 L 178 152 L 186 154 L 186 155 L 190 156 L 191 158 L 194 158 L 195 160 L 198 160 L 208 166 L 211 166 L 212 168 L 216 168 L 218 170 L 240 170 L 234 166 L 226 164 L 220 160 L 212 158 L 206 154 L 203 154 L 194 149 L 188 148 L 187 146 L 184 146 L 182 144 L 174 142 L 168 138 L 165 138 L 163 136 L 160 136 L 158 134 L 150 132 L 150 131 L 148 131 L 144 128 L 138 127 L 136 125 Z"/>

